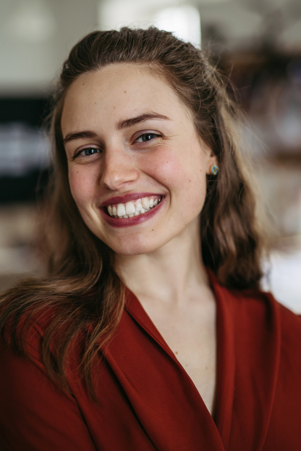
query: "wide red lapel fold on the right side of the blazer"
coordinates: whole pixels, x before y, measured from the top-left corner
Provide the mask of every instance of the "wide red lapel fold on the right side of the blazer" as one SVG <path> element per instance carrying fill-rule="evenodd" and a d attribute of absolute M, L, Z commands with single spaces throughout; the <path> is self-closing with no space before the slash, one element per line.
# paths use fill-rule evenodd
<path fill-rule="evenodd" d="M 213 287 L 220 315 L 217 426 L 228 451 L 260 451 L 278 376 L 278 304 L 258 290 Z"/>

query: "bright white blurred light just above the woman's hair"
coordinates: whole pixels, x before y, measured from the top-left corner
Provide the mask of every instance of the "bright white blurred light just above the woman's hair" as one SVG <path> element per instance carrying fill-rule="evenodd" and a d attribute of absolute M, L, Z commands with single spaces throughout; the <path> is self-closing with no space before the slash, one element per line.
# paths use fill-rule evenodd
<path fill-rule="evenodd" d="M 165 8 L 159 11 L 152 23 L 160 30 L 172 32 L 184 41 L 201 45 L 201 21 L 199 11 L 190 5 Z"/>

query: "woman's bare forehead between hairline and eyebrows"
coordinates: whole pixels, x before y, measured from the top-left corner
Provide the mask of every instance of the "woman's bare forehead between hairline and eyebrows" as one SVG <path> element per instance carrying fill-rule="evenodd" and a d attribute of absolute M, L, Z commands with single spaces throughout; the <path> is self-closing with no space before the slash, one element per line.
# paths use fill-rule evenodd
<path fill-rule="evenodd" d="M 62 129 L 99 116 L 108 122 L 146 110 L 170 117 L 183 116 L 185 108 L 165 79 L 137 65 L 112 64 L 72 83 L 64 101 Z"/>

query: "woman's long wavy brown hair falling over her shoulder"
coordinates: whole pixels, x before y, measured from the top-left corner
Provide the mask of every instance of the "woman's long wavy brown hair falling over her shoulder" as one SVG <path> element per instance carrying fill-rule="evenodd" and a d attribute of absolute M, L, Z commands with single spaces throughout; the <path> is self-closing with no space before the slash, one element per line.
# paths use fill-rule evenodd
<path fill-rule="evenodd" d="M 116 330 L 125 287 L 114 272 L 113 252 L 88 230 L 72 198 L 61 114 L 74 80 L 113 63 L 136 64 L 164 77 L 218 159 L 219 173 L 208 176 L 201 213 L 204 264 L 228 288 L 258 288 L 262 276 L 254 196 L 231 129 L 236 108 L 222 77 L 193 45 L 153 27 L 97 31 L 84 37 L 63 65 L 51 114 L 54 172 L 44 224 L 49 274 L 45 279 L 24 280 L 3 294 L 0 332 L 24 354 L 26 335 L 21 334 L 23 341 L 18 338 L 20 328 L 28 330 L 47 312 L 42 353 L 49 375 L 68 389 L 66 357 L 71 343 L 80 339 L 80 370 L 92 395 L 91 365 Z"/>

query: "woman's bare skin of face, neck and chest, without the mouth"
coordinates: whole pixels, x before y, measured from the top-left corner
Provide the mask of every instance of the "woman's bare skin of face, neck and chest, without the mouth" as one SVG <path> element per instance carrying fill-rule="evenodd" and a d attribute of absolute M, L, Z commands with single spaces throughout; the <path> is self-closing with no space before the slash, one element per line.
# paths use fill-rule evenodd
<path fill-rule="evenodd" d="M 149 113 L 166 119 L 117 127 Z M 216 309 L 199 223 L 215 155 L 167 82 L 136 65 L 112 64 L 80 76 L 67 92 L 61 126 L 64 138 L 91 132 L 65 143 L 70 188 L 83 220 L 115 252 L 117 273 L 214 414 Z M 83 150 L 89 148 L 94 150 Z M 112 227 L 100 204 L 134 192 L 162 195 L 160 208 L 139 224 Z"/>

